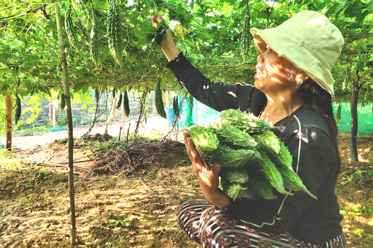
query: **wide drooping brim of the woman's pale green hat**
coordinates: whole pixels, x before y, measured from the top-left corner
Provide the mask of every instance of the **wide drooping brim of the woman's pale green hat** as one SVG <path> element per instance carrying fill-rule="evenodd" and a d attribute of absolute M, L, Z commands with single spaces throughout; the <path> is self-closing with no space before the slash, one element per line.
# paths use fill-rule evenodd
<path fill-rule="evenodd" d="M 294 66 L 315 80 L 323 89 L 329 92 L 334 98 L 333 77 L 330 70 L 320 62 L 320 60 L 299 41 L 293 38 L 281 26 L 259 30 L 251 28 L 254 38 L 255 49 L 259 54 L 266 51 L 267 45 L 278 55 L 288 59 Z M 281 40 L 279 39 L 281 38 Z"/>

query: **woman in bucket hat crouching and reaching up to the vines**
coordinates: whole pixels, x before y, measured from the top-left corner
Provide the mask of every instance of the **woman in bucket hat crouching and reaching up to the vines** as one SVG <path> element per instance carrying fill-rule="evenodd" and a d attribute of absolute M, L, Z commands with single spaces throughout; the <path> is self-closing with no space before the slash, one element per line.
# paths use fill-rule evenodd
<path fill-rule="evenodd" d="M 161 16 L 152 18 L 156 25 Z M 293 169 L 318 200 L 304 192 L 273 200 L 247 195 L 232 201 L 219 190 L 220 164 L 207 170 L 184 134 L 207 200 L 185 202 L 179 225 L 204 247 L 347 247 L 334 193 L 340 168 L 331 99 L 331 68 L 344 45 L 339 30 L 321 13 L 301 11 L 283 24 L 251 29 L 259 55 L 253 85 L 225 85 L 205 78 L 179 52 L 166 31 L 168 67 L 190 94 L 217 111 L 252 112 L 274 126 L 293 157 Z"/>

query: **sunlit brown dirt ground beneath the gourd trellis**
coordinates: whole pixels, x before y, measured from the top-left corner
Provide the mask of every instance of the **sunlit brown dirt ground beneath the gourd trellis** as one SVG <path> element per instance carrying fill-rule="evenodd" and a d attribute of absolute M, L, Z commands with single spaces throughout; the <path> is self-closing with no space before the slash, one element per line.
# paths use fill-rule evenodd
<path fill-rule="evenodd" d="M 75 140 L 74 159 L 91 160 L 75 164 L 90 170 L 74 172 L 75 246 L 70 245 L 67 169 L 35 165 L 68 160 L 67 131 L 23 142 L 16 137 L 17 148 L 0 156 L 0 247 L 201 247 L 183 235 L 176 220 L 182 202 L 203 198 L 180 141 L 182 131 L 170 135 L 173 140 L 161 139 L 171 128 L 147 122 L 141 132 L 159 139 L 126 143 L 122 135 L 122 142 L 116 142 L 110 137 L 118 136 L 119 124 L 114 123 L 109 136 L 100 135 L 98 127 L 87 139 Z M 373 211 L 373 138 L 358 138 L 360 162 L 350 161 L 348 140 L 348 135 L 339 137 L 344 165 L 336 185 L 345 216 L 341 225 L 350 248 L 371 248 L 373 218 L 367 213 Z M 121 216 L 133 226 L 109 226 Z"/>

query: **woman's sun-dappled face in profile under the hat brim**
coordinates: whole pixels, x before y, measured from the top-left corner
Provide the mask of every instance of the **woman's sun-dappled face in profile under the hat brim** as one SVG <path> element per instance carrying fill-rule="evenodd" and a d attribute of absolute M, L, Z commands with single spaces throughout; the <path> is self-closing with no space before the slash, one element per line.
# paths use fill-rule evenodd
<path fill-rule="evenodd" d="M 291 63 L 286 58 L 278 55 L 267 46 L 267 50 L 258 55 L 257 73 L 255 74 L 254 86 L 265 94 L 278 93 L 281 90 L 294 90 L 295 80 L 290 81 L 287 77 Z"/>

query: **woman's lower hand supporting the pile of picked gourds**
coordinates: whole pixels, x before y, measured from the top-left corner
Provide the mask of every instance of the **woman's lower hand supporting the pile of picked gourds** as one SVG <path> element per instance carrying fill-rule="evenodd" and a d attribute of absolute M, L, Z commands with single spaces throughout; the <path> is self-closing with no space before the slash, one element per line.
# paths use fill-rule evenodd
<path fill-rule="evenodd" d="M 219 208 L 229 205 L 228 196 L 224 195 L 219 189 L 219 172 L 222 169 L 222 165 L 213 164 L 211 166 L 211 170 L 208 170 L 204 166 L 200 154 L 192 139 L 186 132 L 184 133 L 184 142 L 203 195 Z"/>

